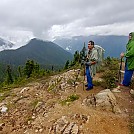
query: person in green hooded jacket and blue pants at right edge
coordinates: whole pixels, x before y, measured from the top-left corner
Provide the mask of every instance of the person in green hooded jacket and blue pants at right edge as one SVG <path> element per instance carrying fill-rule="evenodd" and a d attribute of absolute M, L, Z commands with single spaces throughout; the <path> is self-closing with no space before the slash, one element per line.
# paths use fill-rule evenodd
<path fill-rule="evenodd" d="M 134 32 L 129 34 L 129 41 L 126 45 L 126 52 L 121 53 L 120 57 L 126 58 L 124 79 L 120 86 L 129 86 L 134 73 Z"/>

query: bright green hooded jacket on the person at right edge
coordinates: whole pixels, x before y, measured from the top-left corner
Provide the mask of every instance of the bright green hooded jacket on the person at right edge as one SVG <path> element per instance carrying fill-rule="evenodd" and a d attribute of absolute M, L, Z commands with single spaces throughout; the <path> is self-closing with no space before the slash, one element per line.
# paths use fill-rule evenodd
<path fill-rule="evenodd" d="M 134 32 L 132 32 L 132 39 L 126 45 L 124 56 L 127 59 L 128 70 L 134 70 Z"/>

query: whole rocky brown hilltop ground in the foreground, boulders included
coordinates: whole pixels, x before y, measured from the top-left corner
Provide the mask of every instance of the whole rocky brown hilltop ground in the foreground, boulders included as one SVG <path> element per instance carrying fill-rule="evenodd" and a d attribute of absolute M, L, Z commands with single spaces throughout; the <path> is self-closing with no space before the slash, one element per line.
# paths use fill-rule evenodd
<path fill-rule="evenodd" d="M 70 70 L 1 93 L 0 134 L 130 134 L 130 89 L 86 91 L 83 79 Z"/>

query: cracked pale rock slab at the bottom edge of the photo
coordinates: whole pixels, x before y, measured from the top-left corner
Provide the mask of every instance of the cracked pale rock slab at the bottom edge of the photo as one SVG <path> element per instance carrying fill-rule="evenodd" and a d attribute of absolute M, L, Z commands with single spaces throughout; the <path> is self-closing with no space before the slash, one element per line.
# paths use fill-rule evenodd
<path fill-rule="evenodd" d="M 72 117 L 62 116 L 52 125 L 49 134 L 79 134 L 82 126 L 87 123 L 87 115 L 75 114 Z M 81 128 L 80 128 L 81 127 Z"/>

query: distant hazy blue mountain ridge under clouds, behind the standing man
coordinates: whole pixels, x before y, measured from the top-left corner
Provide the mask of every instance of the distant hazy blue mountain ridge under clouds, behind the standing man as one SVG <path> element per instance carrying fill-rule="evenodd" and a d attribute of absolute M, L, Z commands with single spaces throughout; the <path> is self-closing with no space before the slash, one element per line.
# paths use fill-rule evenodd
<path fill-rule="evenodd" d="M 57 38 L 54 43 L 60 45 L 68 52 L 74 53 L 76 50 L 81 51 L 84 42 L 93 40 L 95 44 L 102 46 L 105 49 L 105 57 L 119 57 L 122 51 L 125 51 L 126 43 L 128 41 L 127 36 L 74 36 L 71 39 Z"/>

